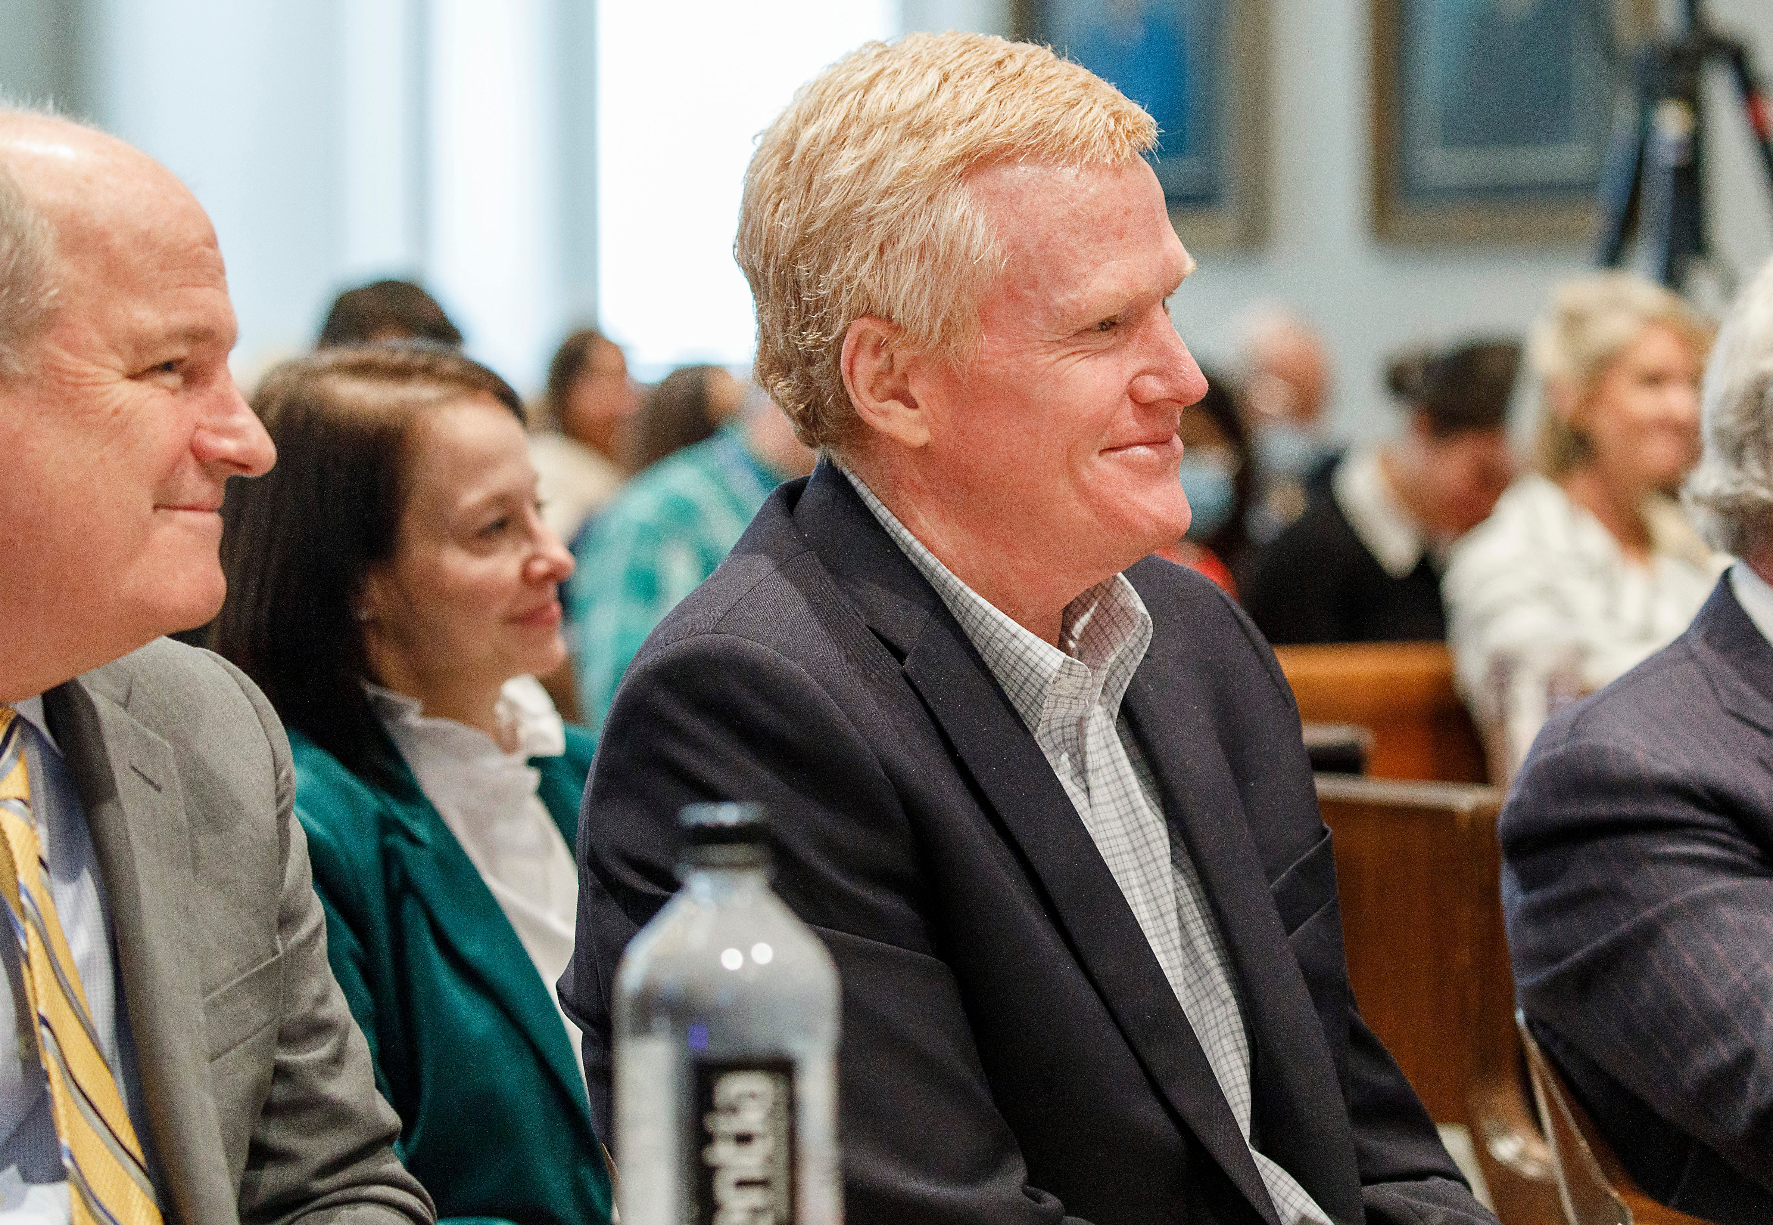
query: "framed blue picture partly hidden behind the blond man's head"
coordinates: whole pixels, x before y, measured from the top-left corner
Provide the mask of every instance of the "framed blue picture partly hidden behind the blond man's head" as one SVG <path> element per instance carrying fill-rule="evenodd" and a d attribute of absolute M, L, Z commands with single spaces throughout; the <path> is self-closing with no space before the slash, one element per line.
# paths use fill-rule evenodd
<path fill-rule="evenodd" d="M 1262 238 L 1266 0 L 1021 0 L 1046 43 L 1158 121 L 1152 170 L 1183 241 Z"/>

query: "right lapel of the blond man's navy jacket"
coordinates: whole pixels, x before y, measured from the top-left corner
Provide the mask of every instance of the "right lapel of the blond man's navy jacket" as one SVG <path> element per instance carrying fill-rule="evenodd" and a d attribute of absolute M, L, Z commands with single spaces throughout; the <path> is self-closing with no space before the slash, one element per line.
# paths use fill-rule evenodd
<path fill-rule="evenodd" d="M 1158 780 L 1170 830 L 1181 833 L 1193 856 L 1225 938 L 1252 1034 L 1257 1140 L 1332 1220 L 1360 1220 L 1358 1179 L 1337 1177 L 1353 1172 L 1356 1161 L 1330 1044 L 1287 945 L 1230 764 L 1209 722 L 1211 707 L 1175 691 L 1184 674 L 1163 668 L 1170 649 L 1174 644 L 1152 644 L 1128 686 L 1124 709 Z M 1165 684 L 1161 698 L 1152 684 L 1158 675 Z"/>

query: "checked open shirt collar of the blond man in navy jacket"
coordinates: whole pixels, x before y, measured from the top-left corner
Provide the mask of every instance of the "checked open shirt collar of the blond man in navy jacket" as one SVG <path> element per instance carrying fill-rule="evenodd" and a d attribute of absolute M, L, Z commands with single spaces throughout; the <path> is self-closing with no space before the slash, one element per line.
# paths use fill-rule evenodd
<path fill-rule="evenodd" d="M 1126 574 L 1103 580 L 1066 605 L 1060 645 L 1055 647 L 961 581 L 856 473 L 833 463 L 894 544 L 936 589 L 1030 732 L 1037 732 L 1043 713 L 1057 700 L 1060 679 L 1083 679 L 1078 675 L 1080 668 L 1101 686 L 1096 700 L 1106 707 L 1108 716 L 1119 718 L 1121 698 L 1144 661 L 1152 635 L 1151 612 Z"/>

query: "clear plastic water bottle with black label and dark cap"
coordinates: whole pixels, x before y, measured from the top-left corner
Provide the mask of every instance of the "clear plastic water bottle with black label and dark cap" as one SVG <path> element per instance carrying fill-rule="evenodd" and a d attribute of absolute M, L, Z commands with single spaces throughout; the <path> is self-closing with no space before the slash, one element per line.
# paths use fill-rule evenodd
<path fill-rule="evenodd" d="M 615 971 L 622 1225 L 842 1225 L 837 966 L 769 888 L 761 805 L 677 821 L 683 888 Z"/>

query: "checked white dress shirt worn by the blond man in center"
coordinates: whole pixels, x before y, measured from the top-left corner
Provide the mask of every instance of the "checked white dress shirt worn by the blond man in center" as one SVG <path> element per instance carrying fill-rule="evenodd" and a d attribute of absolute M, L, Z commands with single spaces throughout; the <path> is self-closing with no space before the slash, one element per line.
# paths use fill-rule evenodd
<path fill-rule="evenodd" d="M 963 583 L 855 473 L 856 493 L 954 613 L 1041 746 L 1113 874 L 1206 1051 L 1245 1143 L 1250 1041 L 1225 940 L 1193 860 L 1170 839 L 1151 766 L 1121 698 L 1151 645 L 1151 613 L 1124 574 L 1066 606 L 1060 647 L 1028 633 Z M 1330 1225 L 1291 1174 L 1250 1149 L 1282 1225 Z"/>

